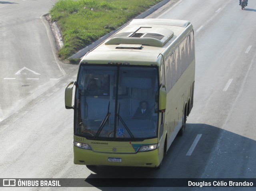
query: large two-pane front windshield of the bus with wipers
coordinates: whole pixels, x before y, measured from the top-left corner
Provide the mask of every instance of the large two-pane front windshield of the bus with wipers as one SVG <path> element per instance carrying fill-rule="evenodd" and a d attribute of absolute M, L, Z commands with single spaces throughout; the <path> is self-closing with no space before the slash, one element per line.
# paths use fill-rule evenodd
<path fill-rule="evenodd" d="M 156 67 L 81 65 L 74 134 L 93 140 L 157 137 L 157 71 Z"/>

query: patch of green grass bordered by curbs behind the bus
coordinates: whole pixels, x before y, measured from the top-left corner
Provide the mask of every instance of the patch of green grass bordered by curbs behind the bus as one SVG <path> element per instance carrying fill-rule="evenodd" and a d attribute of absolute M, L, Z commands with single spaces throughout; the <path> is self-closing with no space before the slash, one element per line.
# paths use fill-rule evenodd
<path fill-rule="evenodd" d="M 59 57 L 67 59 L 158 2 L 161 0 L 58 0 L 50 15 L 64 42 Z"/>

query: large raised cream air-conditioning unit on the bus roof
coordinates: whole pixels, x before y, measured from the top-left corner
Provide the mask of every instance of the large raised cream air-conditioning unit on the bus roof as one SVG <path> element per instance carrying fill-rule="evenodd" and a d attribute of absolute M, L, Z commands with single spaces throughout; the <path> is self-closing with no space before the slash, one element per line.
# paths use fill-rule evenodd
<path fill-rule="evenodd" d="M 134 29 L 134 28 L 133 28 Z M 116 33 L 105 41 L 105 45 L 114 44 L 141 44 L 150 46 L 163 46 L 174 33 L 166 28 L 141 27 L 134 32 Z"/>

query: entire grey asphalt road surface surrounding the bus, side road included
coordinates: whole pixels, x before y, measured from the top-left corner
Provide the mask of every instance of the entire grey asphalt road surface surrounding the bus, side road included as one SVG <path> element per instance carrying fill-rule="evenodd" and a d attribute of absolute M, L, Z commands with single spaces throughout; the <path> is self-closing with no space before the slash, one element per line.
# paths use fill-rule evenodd
<path fill-rule="evenodd" d="M 256 2 L 250 0 L 241 10 L 238 1 L 180 0 L 149 16 L 189 20 L 196 45 L 194 108 L 184 136 L 174 140 L 158 171 L 100 166 L 88 169 L 73 164 L 73 110 L 64 108 L 64 89 L 75 79 L 77 66 L 58 63 L 54 56 L 51 35 L 40 18 L 52 2 L 17 2 L 0 2 L 0 178 L 256 177 Z M 15 75 L 23 67 L 40 75 L 26 69 Z M 32 83 L 28 78 L 40 79 Z M 30 86 L 21 86 L 26 84 Z M 20 102 L 24 106 L 19 106 Z M 96 187 L 56 190 L 120 190 L 92 186 Z M 134 190 L 253 191 L 255 187 Z"/>

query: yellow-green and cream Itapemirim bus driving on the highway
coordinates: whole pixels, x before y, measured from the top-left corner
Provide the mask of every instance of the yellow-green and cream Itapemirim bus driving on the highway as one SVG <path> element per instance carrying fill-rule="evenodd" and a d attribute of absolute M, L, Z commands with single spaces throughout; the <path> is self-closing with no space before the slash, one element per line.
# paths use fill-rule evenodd
<path fill-rule="evenodd" d="M 184 133 L 194 82 L 192 24 L 132 20 L 84 55 L 76 81 L 66 87 L 74 164 L 160 167 Z"/>

